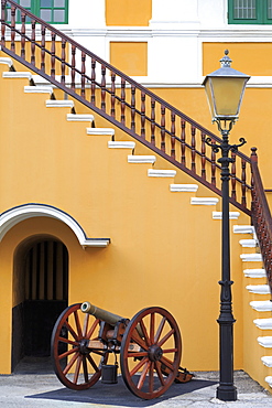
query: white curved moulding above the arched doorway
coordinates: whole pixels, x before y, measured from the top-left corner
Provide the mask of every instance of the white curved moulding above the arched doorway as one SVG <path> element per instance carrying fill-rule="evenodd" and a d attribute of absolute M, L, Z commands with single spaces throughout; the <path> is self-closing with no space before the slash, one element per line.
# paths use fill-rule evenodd
<path fill-rule="evenodd" d="M 36 203 L 19 205 L 0 215 L 0 241 L 14 225 L 33 217 L 50 217 L 62 221 L 74 232 L 83 247 L 105 248 L 110 243 L 110 238 L 88 238 L 81 226 L 69 214 L 54 206 Z"/>

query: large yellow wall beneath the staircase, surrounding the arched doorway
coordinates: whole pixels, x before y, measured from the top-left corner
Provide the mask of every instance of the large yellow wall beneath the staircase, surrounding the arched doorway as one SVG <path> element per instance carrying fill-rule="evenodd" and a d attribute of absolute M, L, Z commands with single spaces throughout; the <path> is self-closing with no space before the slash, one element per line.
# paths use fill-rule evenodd
<path fill-rule="evenodd" d="M 24 94 L 24 85 L 26 79 L 0 77 L 0 212 L 33 202 L 53 205 L 88 237 L 111 244 L 84 250 L 66 225 L 50 218 L 31 218 L 9 230 L 0 244 L 1 373 L 10 373 L 11 308 L 20 301 L 13 293 L 13 258 L 18 245 L 37 234 L 54 236 L 68 249 L 70 304 L 90 300 L 128 318 L 144 307 L 163 307 L 182 331 L 182 364 L 217 369 L 220 223 L 211 219 L 211 211 L 220 206 L 192 206 L 191 194 L 170 192 L 173 179 L 148 178 L 152 165 L 129 164 L 131 151 L 108 149 L 109 136 L 87 136 L 86 124 L 66 121 L 67 108 L 45 108 L 47 97 Z M 205 187 L 203 194 L 213 195 Z M 241 215 L 239 222 L 248 221 Z M 240 259 L 238 238 L 231 239 L 236 368 L 242 368 Z"/>

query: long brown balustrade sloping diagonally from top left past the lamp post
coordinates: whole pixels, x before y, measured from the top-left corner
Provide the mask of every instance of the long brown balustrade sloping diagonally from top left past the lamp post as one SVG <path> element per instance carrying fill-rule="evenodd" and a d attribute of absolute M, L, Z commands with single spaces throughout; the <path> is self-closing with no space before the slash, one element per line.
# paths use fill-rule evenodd
<path fill-rule="evenodd" d="M 1 49 L 221 195 L 220 167 L 205 143 L 220 138 L 12 0 L 1 0 Z M 250 214 L 250 159 L 232 158 L 230 202 Z"/>

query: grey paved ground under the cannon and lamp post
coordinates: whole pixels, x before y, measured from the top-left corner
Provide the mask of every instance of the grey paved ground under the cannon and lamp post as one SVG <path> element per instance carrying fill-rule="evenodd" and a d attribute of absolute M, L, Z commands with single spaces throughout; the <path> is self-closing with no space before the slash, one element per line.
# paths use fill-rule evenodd
<path fill-rule="evenodd" d="M 0 376 L 1 408 L 127 408 L 127 407 L 272 407 L 272 396 L 243 372 L 235 373 L 238 401 L 215 398 L 218 373 L 195 373 L 187 384 L 173 384 L 159 399 L 144 401 L 134 397 L 119 378 L 117 385 L 97 383 L 85 391 L 66 389 L 54 374 L 14 374 Z"/>

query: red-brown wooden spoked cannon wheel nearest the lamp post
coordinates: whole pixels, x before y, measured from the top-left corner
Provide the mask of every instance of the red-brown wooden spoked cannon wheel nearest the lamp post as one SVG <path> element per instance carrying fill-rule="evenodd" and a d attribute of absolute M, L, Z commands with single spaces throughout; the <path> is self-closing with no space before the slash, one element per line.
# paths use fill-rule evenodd
<path fill-rule="evenodd" d="M 127 387 L 143 399 L 164 394 L 177 375 L 181 354 L 181 333 L 172 314 L 162 308 L 143 309 L 130 321 L 121 344 Z"/>

